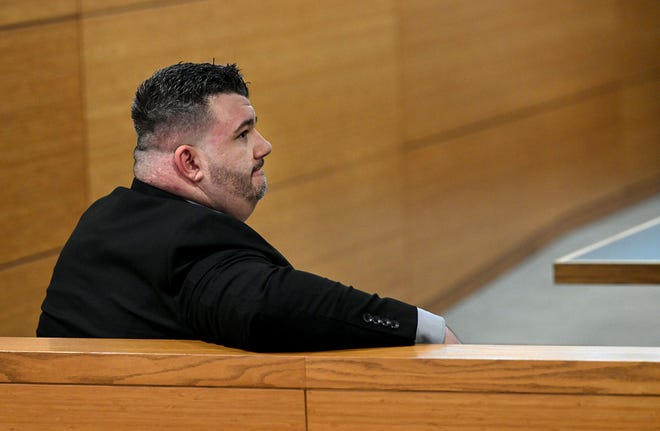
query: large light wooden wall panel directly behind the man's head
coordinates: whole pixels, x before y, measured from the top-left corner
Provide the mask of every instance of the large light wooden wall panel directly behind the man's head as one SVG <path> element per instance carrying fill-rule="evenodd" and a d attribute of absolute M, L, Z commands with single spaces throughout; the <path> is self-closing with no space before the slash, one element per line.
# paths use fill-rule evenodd
<path fill-rule="evenodd" d="M 243 67 L 275 146 L 271 184 L 395 147 L 394 30 L 388 1 L 204 1 L 84 19 L 92 195 L 130 179 L 135 87 L 179 61 Z"/>

